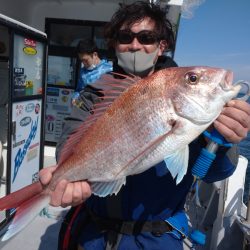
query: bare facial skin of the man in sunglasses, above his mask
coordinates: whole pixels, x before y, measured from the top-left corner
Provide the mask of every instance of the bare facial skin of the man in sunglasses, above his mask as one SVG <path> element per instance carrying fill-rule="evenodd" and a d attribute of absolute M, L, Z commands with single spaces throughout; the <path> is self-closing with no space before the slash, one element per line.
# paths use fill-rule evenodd
<path fill-rule="evenodd" d="M 141 31 L 154 31 L 155 28 L 155 22 L 150 19 L 149 17 L 146 17 L 141 22 L 135 23 L 131 26 L 130 31 L 133 33 L 138 33 Z M 126 29 L 126 27 L 122 26 L 121 30 Z M 123 44 L 121 42 L 117 42 L 116 44 L 116 50 L 120 53 L 122 52 L 134 52 L 134 51 L 142 51 L 145 53 L 152 53 L 156 49 L 159 48 L 159 52 L 157 53 L 156 59 L 158 56 L 162 55 L 164 49 L 165 49 L 165 42 L 164 41 L 155 41 L 152 44 L 142 44 L 138 41 L 137 37 L 135 37 L 131 43 Z"/>

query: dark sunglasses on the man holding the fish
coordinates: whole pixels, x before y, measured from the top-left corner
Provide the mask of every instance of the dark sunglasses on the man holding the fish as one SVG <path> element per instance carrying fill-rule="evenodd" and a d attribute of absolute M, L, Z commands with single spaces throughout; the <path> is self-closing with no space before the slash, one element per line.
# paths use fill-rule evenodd
<path fill-rule="evenodd" d="M 121 44 L 132 43 L 136 39 L 140 44 L 149 45 L 159 42 L 159 36 L 151 30 L 142 30 L 138 33 L 134 33 L 130 30 L 119 30 L 117 40 Z"/>

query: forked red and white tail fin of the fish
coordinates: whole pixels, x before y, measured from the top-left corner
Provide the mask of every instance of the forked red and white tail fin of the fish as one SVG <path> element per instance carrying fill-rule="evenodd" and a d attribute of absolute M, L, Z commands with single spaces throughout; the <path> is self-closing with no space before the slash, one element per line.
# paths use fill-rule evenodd
<path fill-rule="evenodd" d="M 6 241 L 26 227 L 49 204 L 50 197 L 40 182 L 31 184 L 0 199 L 0 210 L 16 208 L 2 241 Z"/>

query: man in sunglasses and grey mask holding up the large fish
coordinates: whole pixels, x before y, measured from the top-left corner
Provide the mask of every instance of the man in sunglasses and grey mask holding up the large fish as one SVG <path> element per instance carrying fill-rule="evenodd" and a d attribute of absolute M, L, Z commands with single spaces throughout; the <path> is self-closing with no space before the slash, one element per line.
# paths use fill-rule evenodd
<path fill-rule="evenodd" d="M 173 47 L 174 36 L 164 11 L 158 6 L 145 2 L 121 6 L 105 34 L 118 58 L 118 65 L 114 64 L 115 72 L 145 77 L 159 68 L 176 66 L 169 58 L 163 57 L 163 52 Z M 80 125 L 79 120 L 89 115 L 90 100 L 93 105 L 98 99 L 94 89 L 91 95 L 83 91 L 81 98 L 88 105 L 82 110 L 73 110 L 72 119 L 65 127 L 65 137 L 57 147 L 57 157 L 65 143 L 63 140 Z M 229 142 L 238 143 L 246 137 L 250 127 L 249 105 L 239 100 L 229 102 L 214 122 L 214 127 Z M 165 162 L 127 177 L 126 185 L 117 195 L 105 198 L 91 195 L 90 186 L 84 181 L 58 183 L 51 196 L 52 205 L 75 206 L 85 201 L 67 216 L 66 221 L 74 230 L 71 234 L 66 233 L 59 245 L 68 241 L 85 250 L 183 249 L 182 239 L 187 233 L 183 211 L 186 195 L 193 183 L 191 168 L 204 145 L 203 136 L 190 144 L 189 169 L 178 185 L 171 174 L 164 171 Z M 234 172 L 236 164 L 236 147 L 221 147 L 204 180 L 224 179 Z M 53 170 L 41 171 L 43 184 L 49 182 Z"/>

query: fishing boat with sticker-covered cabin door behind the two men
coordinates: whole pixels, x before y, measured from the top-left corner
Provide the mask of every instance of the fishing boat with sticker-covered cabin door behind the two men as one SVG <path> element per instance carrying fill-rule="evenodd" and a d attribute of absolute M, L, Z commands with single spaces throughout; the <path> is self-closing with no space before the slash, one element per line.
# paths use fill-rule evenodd
<path fill-rule="evenodd" d="M 55 163 L 55 145 L 71 111 L 80 68 L 74 47 L 82 37 L 94 38 L 101 55 L 112 61 L 102 28 L 120 4 L 131 2 L 0 0 L 1 197 L 36 181 L 41 168 Z M 183 0 L 153 2 L 168 10 L 177 41 Z M 247 165 L 240 156 L 231 177 L 213 184 L 200 182 L 198 195 L 190 192 L 190 231 L 205 233 L 206 243 L 196 245 L 186 238 L 184 249 L 250 249 L 250 209 L 243 202 Z M 0 212 L 0 235 L 13 212 Z M 55 231 L 64 212 L 48 208 L 51 218 L 38 217 L 13 239 L 0 242 L 0 248 L 56 249 Z"/>

